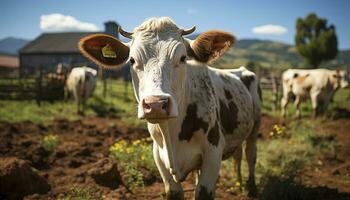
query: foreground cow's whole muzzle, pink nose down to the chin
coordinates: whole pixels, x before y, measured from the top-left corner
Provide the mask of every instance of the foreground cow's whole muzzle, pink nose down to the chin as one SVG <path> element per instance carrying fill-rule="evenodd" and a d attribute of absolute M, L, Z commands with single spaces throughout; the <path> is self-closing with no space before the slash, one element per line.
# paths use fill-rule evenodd
<path fill-rule="evenodd" d="M 171 118 L 170 104 L 168 96 L 147 96 L 142 101 L 143 117 L 150 123 L 160 123 Z"/>

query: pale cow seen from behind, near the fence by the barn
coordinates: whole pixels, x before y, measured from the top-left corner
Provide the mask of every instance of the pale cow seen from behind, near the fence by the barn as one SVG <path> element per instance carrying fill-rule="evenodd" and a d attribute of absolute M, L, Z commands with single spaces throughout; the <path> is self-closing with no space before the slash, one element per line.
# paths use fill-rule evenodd
<path fill-rule="evenodd" d="M 95 69 L 86 66 L 73 68 L 68 75 L 66 87 L 74 96 L 78 114 L 84 114 L 86 101 L 96 86 L 96 75 Z"/>

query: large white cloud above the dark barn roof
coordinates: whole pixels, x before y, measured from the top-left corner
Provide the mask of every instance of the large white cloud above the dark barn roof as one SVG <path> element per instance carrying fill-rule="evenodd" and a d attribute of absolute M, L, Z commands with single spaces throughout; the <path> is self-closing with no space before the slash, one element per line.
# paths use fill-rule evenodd
<path fill-rule="evenodd" d="M 52 13 L 41 15 L 40 29 L 47 32 L 55 31 L 98 31 L 99 28 L 92 23 L 81 22 L 73 16 Z"/>

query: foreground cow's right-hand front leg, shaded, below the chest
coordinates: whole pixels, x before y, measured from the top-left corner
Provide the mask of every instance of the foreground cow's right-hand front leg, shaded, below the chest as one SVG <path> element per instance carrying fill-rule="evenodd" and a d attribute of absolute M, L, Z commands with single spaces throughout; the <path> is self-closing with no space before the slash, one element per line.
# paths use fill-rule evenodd
<path fill-rule="evenodd" d="M 219 146 L 218 146 L 219 147 Z M 219 177 L 221 154 L 218 148 L 209 150 L 204 157 L 199 171 L 196 187 L 196 200 L 212 200 L 215 196 L 215 186 Z"/>

